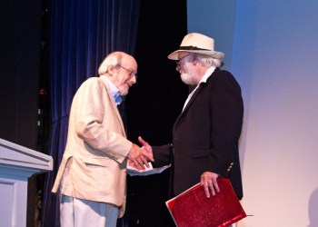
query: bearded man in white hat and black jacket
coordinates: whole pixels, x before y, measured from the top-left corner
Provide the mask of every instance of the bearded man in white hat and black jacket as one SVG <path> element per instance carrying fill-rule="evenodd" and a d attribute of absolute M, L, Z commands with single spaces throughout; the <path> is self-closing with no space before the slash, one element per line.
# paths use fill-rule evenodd
<path fill-rule="evenodd" d="M 201 182 L 210 197 L 219 192 L 216 179 L 224 176 L 243 197 L 238 152 L 243 99 L 234 76 L 220 69 L 223 57 L 214 51 L 214 39 L 197 33 L 185 35 L 180 48 L 168 55 L 184 84 L 195 88 L 174 123 L 173 142 L 143 145 L 154 153 L 154 166 L 172 163 L 174 195 Z"/>

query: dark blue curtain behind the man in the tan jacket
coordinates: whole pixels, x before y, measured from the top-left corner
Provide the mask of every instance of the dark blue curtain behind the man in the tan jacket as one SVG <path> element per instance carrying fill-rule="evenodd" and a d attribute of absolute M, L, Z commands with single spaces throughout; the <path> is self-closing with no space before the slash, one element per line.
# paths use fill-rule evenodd
<path fill-rule="evenodd" d="M 106 54 L 134 55 L 140 0 L 52 0 L 50 72 L 54 170 L 45 178 L 41 225 L 60 226 L 58 196 L 51 193 L 65 149 L 73 96 L 85 79 L 97 76 Z"/>

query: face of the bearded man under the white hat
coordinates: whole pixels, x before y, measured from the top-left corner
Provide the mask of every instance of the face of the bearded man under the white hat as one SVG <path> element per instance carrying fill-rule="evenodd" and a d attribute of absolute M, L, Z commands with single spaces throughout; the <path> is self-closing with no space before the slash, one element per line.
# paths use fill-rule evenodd
<path fill-rule="evenodd" d="M 184 84 L 194 85 L 195 71 L 192 62 L 188 62 L 188 55 L 189 54 L 183 52 L 179 54 L 179 61 L 177 63 L 176 70 L 180 73 L 181 80 Z"/>

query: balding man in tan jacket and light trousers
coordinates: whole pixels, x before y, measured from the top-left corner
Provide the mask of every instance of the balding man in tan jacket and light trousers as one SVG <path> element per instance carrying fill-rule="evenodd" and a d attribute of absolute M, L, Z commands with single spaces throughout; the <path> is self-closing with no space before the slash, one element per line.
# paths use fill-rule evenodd
<path fill-rule="evenodd" d="M 127 159 L 139 169 L 154 161 L 126 139 L 116 106 L 136 83 L 136 72 L 133 56 L 108 54 L 100 76 L 87 79 L 75 94 L 52 190 L 61 194 L 61 226 L 115 226 L 124 215 Z"/>

